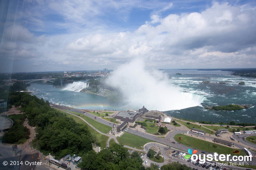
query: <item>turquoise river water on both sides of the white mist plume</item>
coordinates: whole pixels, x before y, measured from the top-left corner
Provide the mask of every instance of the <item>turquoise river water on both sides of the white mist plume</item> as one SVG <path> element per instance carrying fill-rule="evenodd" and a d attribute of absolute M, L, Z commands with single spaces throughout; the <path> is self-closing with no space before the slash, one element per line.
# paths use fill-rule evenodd
<path fill-rule="evenodd" d="M 163 72 L 170 76 L 170 86 L 180 87 L 183 92 L 205 98 L 199 106 L 165 111 L 167 115 L 212 122 L 230 122 L 231 120 L 235 122 L 256 122 L 256 79 L 232 76 L 230 72 L 226 71 L 164 70 Z M 176 73 L 182 75 L 176 75 Z M 210 83 L 204 84 L 203 81 L 210 81 Z M 219 82 L 225 82 L 226 84 L 220 84 Z M 245 82 L 245 85 L 239 85 L 239 82 Z M 126 108 L 125 104 L 118 106 L 110 103 L 107 98 L 102 96 L 78 92 L 80 88 L 84 87 L 86 87 L 85 82 L 75 82 L 63 88 L 54 87 L 48 83 L 31 83 L 31 86 L 27 89 L 33 91 L 32 95 L 42 97 L 51 103 L 74 108 L 131 109 Z M 227 104 L 251 104 L 252 107 L 238 111 L 214 111 L 202 107 Z"/>

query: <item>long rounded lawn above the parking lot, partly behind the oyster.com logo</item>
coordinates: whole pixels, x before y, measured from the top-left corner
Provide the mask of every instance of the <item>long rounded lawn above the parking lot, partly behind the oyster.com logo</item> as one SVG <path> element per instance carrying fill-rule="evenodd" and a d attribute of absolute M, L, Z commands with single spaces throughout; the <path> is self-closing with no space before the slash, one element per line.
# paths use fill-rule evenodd
<path fill-rule="evenodd" d="M 181 137 L 181 140 L 179 139 L 179 137 Z M 195 149 L 200 149 L 200 150 L 204 150 L 204 151 L 209 151 L 212 153 L 217 152 L 218 154 L 231 154 L 231 155 L 246 155 L 244 151 L 242 151 L 241 149 L 234 149 L 233 147 L 226 147 L 226 146 L 222 146 L 219 145 L 217 143 L 212 143 L 212 142 L 208 142 L 208 141 L 203 141 L 201 139 L 197 139 L 197 138 L 193 138 L 193 137 L 189 137 L 187 135 L 183 135 L 183 134 L 177 134 L 175 135 L 174 139 L 178 142 L 181 143 L 183 145 L 195 148 Z M 208 145 L 210 144 L 210 145 Z M 213 145 L 217 146 L 217 147 L 213 147 Z M 209 150 L 208 150 L 209 148 Z M 232 152 L 234 150 L 239 150 L 240 153 L 239 154 L 233 154 Z"/>

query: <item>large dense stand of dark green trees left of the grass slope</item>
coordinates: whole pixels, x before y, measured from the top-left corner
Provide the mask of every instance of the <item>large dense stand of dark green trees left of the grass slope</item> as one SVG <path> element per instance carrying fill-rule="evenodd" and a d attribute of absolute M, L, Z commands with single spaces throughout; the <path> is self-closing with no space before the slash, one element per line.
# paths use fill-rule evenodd
<path fill-rule="evenodd" d="M 29 125 L 36 127 L 37 135 L 32 143 L 44 154 L 51 153 L 59 159 L 67 154 L 83 155 L 92 150 L 93 141 L 87 126 L 51 108 L 48 101 L 25 92 L 11 92 L 9 102 L 15 107 L 20 106 Z M 9 131 L 5 136 L 8 134 Z"/>

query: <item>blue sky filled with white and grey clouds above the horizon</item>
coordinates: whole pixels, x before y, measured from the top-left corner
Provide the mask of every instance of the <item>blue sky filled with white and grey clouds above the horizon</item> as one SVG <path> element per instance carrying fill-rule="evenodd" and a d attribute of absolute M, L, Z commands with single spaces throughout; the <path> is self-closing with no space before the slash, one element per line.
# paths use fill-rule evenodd
<path fill-rule="evenodd" d="M 255 68 L 254 0 L 0 1 L 0 72 Z"/>

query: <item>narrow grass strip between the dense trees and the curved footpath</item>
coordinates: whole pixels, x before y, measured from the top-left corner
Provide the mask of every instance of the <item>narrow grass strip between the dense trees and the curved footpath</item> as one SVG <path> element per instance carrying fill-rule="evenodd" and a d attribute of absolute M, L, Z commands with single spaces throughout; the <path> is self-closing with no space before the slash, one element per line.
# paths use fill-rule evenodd
<path fill-rule="evenodd" d="M 59 111 L 60 111 L 60 110 L 59 110 Z M 60 111 L 60 112 L 63 112 L 63 111 Z M 77 123 L 86 125 L 86 126 L 88 127 L 89 131 L 91 132 L 91 134 L 98 134 L 98 135 L 100 135 L 100 136 L 101 136 L 101 140 L 100 140 L 100 142 L 99 142 L 99 146 L 100 146 L 101 148 L 106 148 L 106 144 L 107 144 L 107 141 L 108 141 L 108 139 L 109 139 L 108 136 L 102 135 L 102 134 L 98 133 L 98 132 L 97 132 L 96 130 L 94 130 L 91 126 L 89 126 L 87 123 L 85 123 L 82 119 L 80 119 L 80 118 L 78 118 L 78 117 L 76 117 L 76 116 L 74 116 L 74 115 L 68 114 L 68 113 L 66 113 L 66 112 L 63 112 L 63 114 L 67 115 L 67 116 L 70 117 L 70 118 L 73 118 Z"/>

